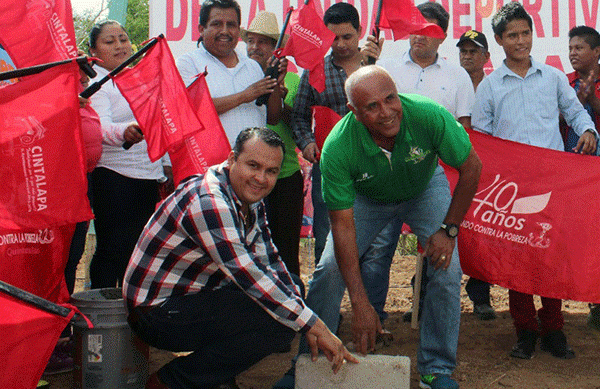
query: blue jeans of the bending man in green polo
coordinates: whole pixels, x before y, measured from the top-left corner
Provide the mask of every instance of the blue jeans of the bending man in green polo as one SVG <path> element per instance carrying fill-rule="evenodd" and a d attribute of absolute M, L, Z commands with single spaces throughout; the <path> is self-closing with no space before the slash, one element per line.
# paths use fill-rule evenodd
<path fill-rule="evenodd" d="M 444 171 L 438 166 L 427 188 L 417 198 L 400 203 L 377 203 L 364 196 L 354 202 L 356 243 L 363 283 L 367 293 L 389 282 L 391 261 L 367 258 L 365 253 L 377 239 L 394 242 L 400 236 L 402 223 L 408 224 L 425 246 L 427 239 L 439 230 L 450 205 L 451 195 Z M 343 242 L 341 242 L 343 244 Z M 388 249 L 386 249 L 387 251 Z M 462 270 L 455 247 L 448 269 L 428 266 L 427 294 L 421 319 L 418 368 L 420 374 L 452 374 L 456 367 L 456 349 L 460 327 L 460 280 Z M 387 287 L 387 286 L 386 286 Z M 332 332 L 339 324 L 339 311 L 345 291 L 339 271 L 332 235 L 327 239 L 319 265 L 313 274 L 307 305 L 327 324 Z"/>

